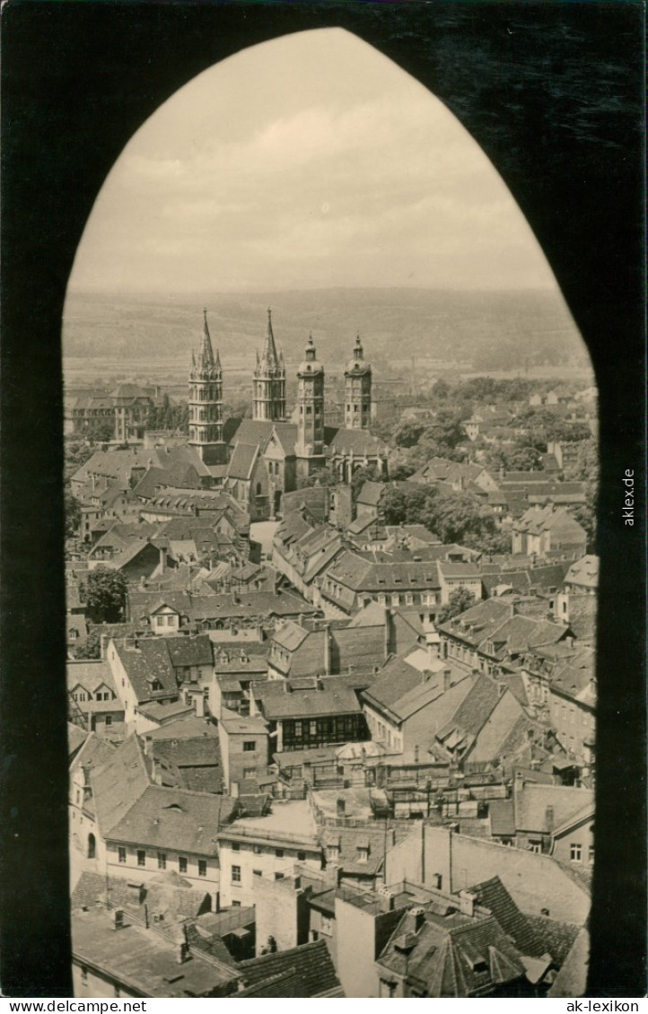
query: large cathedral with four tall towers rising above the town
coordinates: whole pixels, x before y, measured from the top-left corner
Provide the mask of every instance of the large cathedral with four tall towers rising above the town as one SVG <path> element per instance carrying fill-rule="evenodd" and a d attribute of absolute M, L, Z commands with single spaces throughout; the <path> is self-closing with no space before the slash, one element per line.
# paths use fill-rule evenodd
<path fill-rule="evenodd" d="M 277 351 L 268 310 L 266 336 L 251 377 L 251 419 L 223 420 L 223 376 L 214 352 L 207 310 L 189 376 L 189 444 L 214 481 L 253 520 L 276 517 L 281 497 L 328 467 L 349 484 L 358 468 L 386 477 L 387 448 L 369 432 L 371 366 L 358 336 L 344 373 L 344 427 L 325 425 L 325 368 L 312 335 L 297 369 L 294 412 L 286 414 L 286 367 Z"/>

